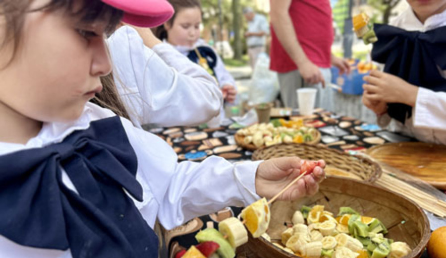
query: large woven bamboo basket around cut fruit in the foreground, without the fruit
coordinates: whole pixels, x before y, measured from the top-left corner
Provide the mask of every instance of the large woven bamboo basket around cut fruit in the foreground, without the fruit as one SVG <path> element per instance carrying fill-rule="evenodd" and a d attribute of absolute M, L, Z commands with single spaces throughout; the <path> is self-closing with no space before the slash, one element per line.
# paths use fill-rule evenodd
<path fill-rule="evenodd" d="M 361 215 L 376 217 L 389 230 L 385 235 L 394 241 L 406 242 L 412 252 L 404 258 L 421 257 L 430 237 L 429 220 L 423 210 L 411 200 L 381 187 L 357 180 L 329 177 L 319 188 L 319 193 L 296 201 L 275 201 L 271 205 L 271 221 L 267 233 L 272 242 L 280 242 L 280 234 L 291 224 L 295 210 L 302 205 L 324 205 L 337 213 L 339 207 L 349 206 Z M 246 258 L 295 258 L 264 238 L 252 238 L 237 251 Z"/>

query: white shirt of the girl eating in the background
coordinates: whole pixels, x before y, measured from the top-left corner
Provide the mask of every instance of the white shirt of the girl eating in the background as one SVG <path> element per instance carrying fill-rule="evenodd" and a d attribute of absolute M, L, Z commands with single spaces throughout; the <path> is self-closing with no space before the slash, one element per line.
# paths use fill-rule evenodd
<path fill-rule="evenodd" d="M 169 44 L 166 40 L 164 40 L 164 43 Z M 170 45 L 170 44 L 169 44 Z M 189 54 L 190 51 L 193 51 L 195 48 L 198 47 L 209 47 L 212 49 L 211 46 L 209 46 L 206 41 L 203 39 L 198 39 L 197 42 L 195 42 L 193 47 L 187 47 L 187 46 L 173 46 L 176 50 L 178 50 L 182 55 L 186 56 Z M 223 87 L 224 85 L 232 85 L 236 87 L 234 77 L 226 70 L 224 67 L 223 60 L 220 58 L 219 54 L 215 52 L 214 49 L 212 49 L 217 56 L 217 64 L 214 67 L 215 76 L 217 78 L 217 81 L 220 85 L 220 87 Z"/>

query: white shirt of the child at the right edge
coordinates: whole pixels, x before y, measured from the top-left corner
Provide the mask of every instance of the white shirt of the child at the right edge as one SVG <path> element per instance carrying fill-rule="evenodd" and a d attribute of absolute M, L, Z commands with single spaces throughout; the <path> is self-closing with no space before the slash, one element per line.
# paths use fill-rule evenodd
<path fill-rule="evenodd" d="M 390 25 L 407 31 L 426 32 L 446 26 L 446 10 L 429 17 L 423 24 L 409 7 Z M 440 70 L 440 72 L 446 78 L 446 71 Z M 378 117 L 378 125 L 412 135 L 420 141 L 446 144 L 446 93 L 419 87 L 415 107 L 412 108 L 412 117 L 406 119 L 404 125 L 391 119 L 387 114 Z"/>

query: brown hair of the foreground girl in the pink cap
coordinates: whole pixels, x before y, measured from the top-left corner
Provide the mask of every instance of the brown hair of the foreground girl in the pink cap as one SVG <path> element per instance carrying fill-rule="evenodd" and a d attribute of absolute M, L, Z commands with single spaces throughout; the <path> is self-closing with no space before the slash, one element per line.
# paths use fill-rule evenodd
<path fill-rule="evenodd" d="M 25 14 L 32 11 L 56 11 L 64 9 L 68 13 L 79 16 L 80 22 L 91 23 L 98 19 L 107 17 L 108 26 L 106 33 L 110 34 L 122 18 L 123 12 L 115 9 L 101 0 L 79 0 L 82 1 L 82 7 L 74 10 L 73 3 L 76 0 L 51 0 L 45 6 L 30 10 L 29 6 L 32 0 L 0 0 L 0 16 L 4 19 L 4 38 L 0 42 L 0 49 L 4 48 L 10 42 L 13 43 L 13 52 L 9 63 L 17 54 L 20 45 L 21 31 Z M 1 19 L 0 18 L 0 19 Z M 116 90 L 113 81 L 113 75 L 101 77 L 104 89 L 92 100 L 93 103 L 101 107 L 108 108 L 117 115 L 129 119 L 128 112 L 125 109 Z"/>

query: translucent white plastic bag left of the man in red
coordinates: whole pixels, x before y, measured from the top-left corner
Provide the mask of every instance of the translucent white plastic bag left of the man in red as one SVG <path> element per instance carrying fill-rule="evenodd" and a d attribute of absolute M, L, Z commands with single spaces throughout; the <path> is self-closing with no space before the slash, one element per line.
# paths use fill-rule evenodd
<path fill-rule="evenodd" d="M 249 88 L 249 105 L 273 102 L 279 94 L 277 73 L 270 70 L 270 58 L 266 53 L 259 54 L 252 82 Z"/>

